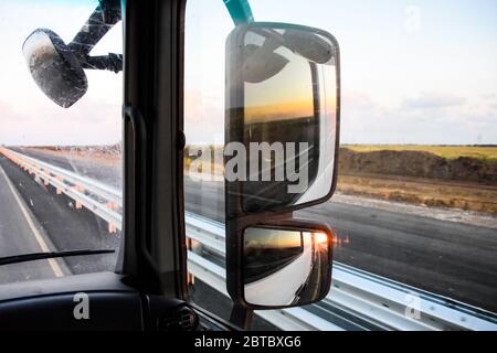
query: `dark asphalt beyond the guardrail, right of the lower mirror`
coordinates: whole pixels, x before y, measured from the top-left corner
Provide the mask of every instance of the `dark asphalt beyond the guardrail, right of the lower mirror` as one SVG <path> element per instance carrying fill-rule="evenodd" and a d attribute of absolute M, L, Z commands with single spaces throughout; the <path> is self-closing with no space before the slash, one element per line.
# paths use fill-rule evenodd
<path fill-rule="evenodd" d="M 496 229 L 336 203 L 300 214 L 349 239 L 337 261 L 497 311 Z"/>

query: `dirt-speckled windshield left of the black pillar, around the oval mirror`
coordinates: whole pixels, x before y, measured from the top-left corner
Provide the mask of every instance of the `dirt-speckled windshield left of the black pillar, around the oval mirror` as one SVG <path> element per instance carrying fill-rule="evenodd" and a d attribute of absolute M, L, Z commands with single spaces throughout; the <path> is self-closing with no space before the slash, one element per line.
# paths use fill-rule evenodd
<path fill-rule="evenodd" d="M 39 88 L 22 50 L 36 29 L 71 43 L 97 6 L 96 0 L 0 2 L 0 257 L 119 247 L 121 74 L 86 69 L 86 95 L 64 109 Z M 39 42 L 51 45 L 46 38 L 33 45 Z M 92 55 L 121 53 L 121 42 L 118 23 Z M 113 270 L 116 257 L 7 265 L 0 284 Z"/>

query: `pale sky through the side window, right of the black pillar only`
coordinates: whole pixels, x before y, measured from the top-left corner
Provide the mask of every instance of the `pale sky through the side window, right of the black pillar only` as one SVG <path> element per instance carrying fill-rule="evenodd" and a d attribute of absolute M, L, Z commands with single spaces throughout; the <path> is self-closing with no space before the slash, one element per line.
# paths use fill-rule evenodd
<path fill-rule="evenodd" d="M 342 143 L 497 143 L 496 1 L 251 4 L 256 21 L 315 26 L 338 40 Z M 233 23 L 222 11 L 218 0 L 187 3 L 190 141 L 223 133 L 223 53 Z"/>

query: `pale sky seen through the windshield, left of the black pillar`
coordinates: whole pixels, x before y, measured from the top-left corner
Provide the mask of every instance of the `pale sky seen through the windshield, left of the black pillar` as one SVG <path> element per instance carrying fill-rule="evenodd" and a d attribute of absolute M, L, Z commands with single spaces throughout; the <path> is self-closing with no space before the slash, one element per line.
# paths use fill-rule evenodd
<path fill-rule="evenodd" d="M 109 145 L 120 141 L 123 75 L 86 71 L 88 92 L 68 109 L 50 100 L 32 79 L 22 43 L 38 28 L 71 42 L 96 8 L 96 0 L 0 1 L 0 145 Z M 115 26 L 93 54 L 121 53 Z"/>

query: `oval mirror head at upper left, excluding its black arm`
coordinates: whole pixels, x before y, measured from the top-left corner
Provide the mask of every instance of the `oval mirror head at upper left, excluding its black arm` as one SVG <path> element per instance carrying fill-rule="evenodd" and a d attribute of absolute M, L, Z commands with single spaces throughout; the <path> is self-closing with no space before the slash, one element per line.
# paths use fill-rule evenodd
<path fill-rule="evenodd" d="M 31 33 L 22 52 L 36 85 L 59 106 L 71 107 L 88 89 L 80 61 L 51 30 L 38 29 Z"/>

